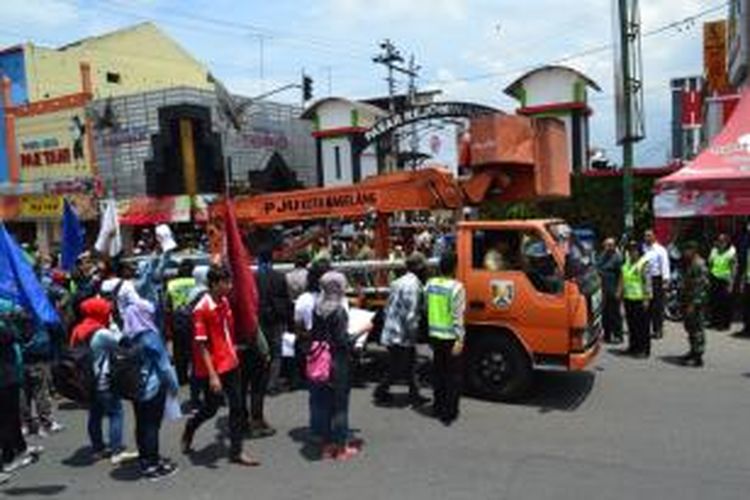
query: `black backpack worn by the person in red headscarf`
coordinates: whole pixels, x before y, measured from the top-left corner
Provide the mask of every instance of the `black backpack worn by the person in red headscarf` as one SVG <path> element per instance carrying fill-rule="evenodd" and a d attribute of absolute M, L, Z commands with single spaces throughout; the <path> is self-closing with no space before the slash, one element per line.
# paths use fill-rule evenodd
<path fill-rule="evenodd" d="M 52 365 L 52 383 L 58 394 L 77 403 L 89 404 L 96 390 L 94 356 L 88 344 L 65 349 Z"/>

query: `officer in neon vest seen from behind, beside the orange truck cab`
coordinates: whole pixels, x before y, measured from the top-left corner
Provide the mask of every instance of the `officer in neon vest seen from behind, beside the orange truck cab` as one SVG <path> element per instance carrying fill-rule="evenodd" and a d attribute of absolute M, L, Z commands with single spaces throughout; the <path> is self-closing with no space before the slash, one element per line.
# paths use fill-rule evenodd
<path fill-rule="evenodd" d="M 456 254 L 446 252 L 440 257 L 440 276 L 425 287 L 433 349 L 433 408 L 435 417 L 445 425 L 458 418 L 465 337 L 466 290 L 454 279 L 455 273 Z"/>

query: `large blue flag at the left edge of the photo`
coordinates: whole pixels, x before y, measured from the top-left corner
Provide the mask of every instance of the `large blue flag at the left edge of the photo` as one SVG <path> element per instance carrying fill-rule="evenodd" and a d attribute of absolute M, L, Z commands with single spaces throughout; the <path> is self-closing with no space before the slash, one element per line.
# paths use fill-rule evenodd
<path fill-rule="evenodd" d="M 57 311 L 13 236 L 0 224 L 0 297 L 48 325 L 60 322 Z"/>

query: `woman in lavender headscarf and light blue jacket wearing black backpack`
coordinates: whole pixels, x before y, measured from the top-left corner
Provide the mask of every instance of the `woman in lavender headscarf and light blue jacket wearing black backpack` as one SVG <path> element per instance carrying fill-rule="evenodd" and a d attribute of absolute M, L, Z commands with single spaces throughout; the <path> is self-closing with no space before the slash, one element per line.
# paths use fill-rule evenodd
<path fill-rule="evenodd" d="M 133 402 L 133 409 L 141 474 L 150 480 L 177 472 L 177 464 L 159 455 L 159 431 L 167 394 L 176 396 L 179 390 L 177 374 L 154 323 L 154 313 L 153 304 L 134 297 L 125 308 L 124 317 L 125 336 L 143 350 L 141 376 L 145 381 L 144 389 Z"/>

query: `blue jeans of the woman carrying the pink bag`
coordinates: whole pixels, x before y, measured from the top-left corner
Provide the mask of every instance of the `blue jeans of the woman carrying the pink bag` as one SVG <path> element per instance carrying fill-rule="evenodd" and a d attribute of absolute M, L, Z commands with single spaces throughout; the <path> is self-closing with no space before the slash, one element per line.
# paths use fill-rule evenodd
<path fill-rule="evenodd" d="M 310 384 L 310 430 L 324 443 L 349 440 L 349 388 Z"/>

